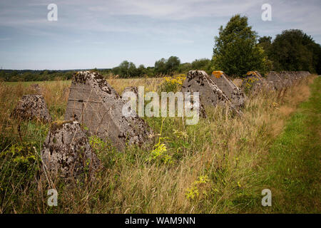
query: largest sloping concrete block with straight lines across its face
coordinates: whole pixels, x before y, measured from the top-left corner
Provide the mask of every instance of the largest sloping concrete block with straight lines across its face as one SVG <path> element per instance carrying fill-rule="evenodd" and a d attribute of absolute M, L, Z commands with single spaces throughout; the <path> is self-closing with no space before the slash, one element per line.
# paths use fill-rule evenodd
<path fill-rule="evenodd" d="M 73 75 L 65 120 L 78 120 L 88 132 L 123 150 L 128 145 L 143 145 L 151 130 L 142 118 L 126 117 L 126 103 L 116 90 L 96 72 L 80 71 Z"/>

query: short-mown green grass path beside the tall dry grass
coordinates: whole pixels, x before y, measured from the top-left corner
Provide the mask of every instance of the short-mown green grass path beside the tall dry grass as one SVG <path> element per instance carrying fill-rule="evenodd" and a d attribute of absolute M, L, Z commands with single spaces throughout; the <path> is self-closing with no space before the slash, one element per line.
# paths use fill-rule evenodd
<path fill-rule="evenodd" d="M 258 212 L 321 212 L 320 115 L 321 78 L 317 77 L 309 100 L 288 120 L 260 170 L 267 177 L 263 186 L 272 191 L 272 207 L 261 207 Z"/>

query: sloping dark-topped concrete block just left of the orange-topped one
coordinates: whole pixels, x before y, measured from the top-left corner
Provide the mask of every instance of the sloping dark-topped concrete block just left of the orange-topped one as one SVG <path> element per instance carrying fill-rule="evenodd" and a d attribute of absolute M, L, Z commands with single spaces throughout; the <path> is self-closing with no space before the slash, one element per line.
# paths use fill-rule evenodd
<path fill-rule="evenodd" d="M 229 105 L 232 110 L 240 114 L 233 103 L 231 103 L 223 91 L 215 85 L 205 71 L 189 71 L 183 83 L 182 92 L 198 92 L 201 105 Z"/>

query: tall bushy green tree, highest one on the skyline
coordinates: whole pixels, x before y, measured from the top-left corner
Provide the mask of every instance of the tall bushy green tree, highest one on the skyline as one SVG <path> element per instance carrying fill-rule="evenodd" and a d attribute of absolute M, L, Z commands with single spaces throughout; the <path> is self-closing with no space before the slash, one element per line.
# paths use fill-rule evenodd
<path fill-rule="evenodd" d="M 267 71 L 268 60 L 258 46 L 257 33 L 248 25 L 248 17 L 235 15 L 225 28 L 220 26 L 213 48 L 213 70 L 229 76 L 242 76 L 248 71 Z"/>

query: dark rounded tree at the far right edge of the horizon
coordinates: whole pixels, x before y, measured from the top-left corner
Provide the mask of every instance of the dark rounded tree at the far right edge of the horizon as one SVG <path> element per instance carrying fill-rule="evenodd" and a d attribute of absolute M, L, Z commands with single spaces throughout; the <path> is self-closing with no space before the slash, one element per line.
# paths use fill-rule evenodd
<path fill-rule="evenodd" d="M 321 48 L 299 29 L 282 31 L 272 42 L 269 56 L 275 71 L 320 72 Z"/>

